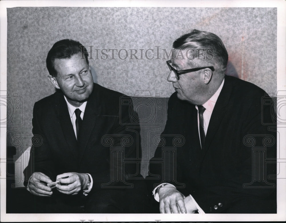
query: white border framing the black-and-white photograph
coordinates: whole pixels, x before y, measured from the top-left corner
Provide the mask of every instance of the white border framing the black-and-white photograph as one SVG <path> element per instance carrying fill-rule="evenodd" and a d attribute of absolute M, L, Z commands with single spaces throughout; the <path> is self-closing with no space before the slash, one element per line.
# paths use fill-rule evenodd
<path fill-rule="evenodd" d="M 11 7 L 277 7 L 277 91 L 286 91 L 286 1 L 284 0 L 233 0 L 233 1 L 0 1 L 0 90 L 7 90 L 7 8 Z M 2 106 L 3 107 L 3 106 Z M 1 109 L 6 113 L 5 109 Z M 286 116 L 286 114 L 284 114 Z M 283 120 L 286 120 L 284 116 Z M 280 128 L 281 136 L 286 135 L 286 123 Z M 1 222 L 47 222 L 73 221 L 89 222 L 195 222 L 195 221 L 285 221 L 286 220 L 286 170 L 280 170 L 285 179 L 279 179 L 277 184 L 277 214 L 6 214 L 6 127 L 1 126 Z M 280 158 L 286 158 L 286 140 L 280 142 Z M 277 148 L 277 152 L 278 152 Z M 277 164 L 278 166 L 278 164 Z M 281 171 L 284 171 L 281 173 Z M 3 177 L 4 176 L 4 177 Z M 2 178 L 3 177 L 3 178 Z"/>

